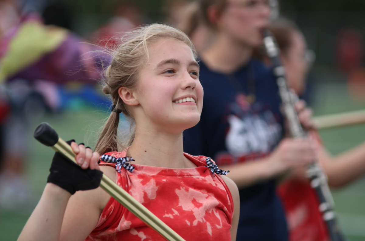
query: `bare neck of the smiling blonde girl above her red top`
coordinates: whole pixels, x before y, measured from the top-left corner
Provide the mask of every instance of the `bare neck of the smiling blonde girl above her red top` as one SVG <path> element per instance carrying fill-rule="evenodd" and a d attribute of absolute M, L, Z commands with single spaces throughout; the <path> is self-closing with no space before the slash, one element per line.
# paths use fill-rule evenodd
<path fill-rule="evenodd" d="M 143 134 L 142 134 L 143 133 Z M 184 156 L 183 135 L 136 131 L 128 149 L 135 164 L 165 168 L 192 168 L 192 162 Z"/>

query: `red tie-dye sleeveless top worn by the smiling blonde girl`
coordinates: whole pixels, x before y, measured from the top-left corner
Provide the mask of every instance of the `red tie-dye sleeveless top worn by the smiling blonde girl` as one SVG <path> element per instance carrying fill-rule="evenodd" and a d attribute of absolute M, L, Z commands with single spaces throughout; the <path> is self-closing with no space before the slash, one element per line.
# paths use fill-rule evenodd
<path fill-rule="evenodd" d="M 107 155 L 123 158 L 126 152 Z M 220 175 L 211 172 L 206 157 L 184 153 L 196 168 L 173 169 L 137 165 L 120 168 L 116 183 L 186 241 L 231 241 L 233 199 Z M 101 165 L 112 163 L 101 162 Z M 87 241 L 164 240 L 111 198 Z"/>

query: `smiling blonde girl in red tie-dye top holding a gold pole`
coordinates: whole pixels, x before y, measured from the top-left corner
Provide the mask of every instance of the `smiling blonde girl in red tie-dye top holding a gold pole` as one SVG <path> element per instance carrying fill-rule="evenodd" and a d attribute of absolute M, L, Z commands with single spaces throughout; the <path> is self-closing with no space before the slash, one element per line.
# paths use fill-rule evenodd
<path fill-rule="evenodd" d="M 163 24 L 131 32 L 115 50 L 103 91 L 111 95 L 113 111 L 97 152 L 71 143 L 83 169 L 64 168 L 66 161 L 54 157 L 18 240 L 162 240 L 106 192 L 92 189 L 100 181 L 99 153 L 100 170 L 185 240 L 235 240 L 237 186 L 210 158 L 183 152 L 182 133 L 199 122 L 203 106 L 189 38 Z M 117 138 L 121 112 L 135 123 L 126 146 Z M 90 169 L 84 179 L 69 175 Z"/>

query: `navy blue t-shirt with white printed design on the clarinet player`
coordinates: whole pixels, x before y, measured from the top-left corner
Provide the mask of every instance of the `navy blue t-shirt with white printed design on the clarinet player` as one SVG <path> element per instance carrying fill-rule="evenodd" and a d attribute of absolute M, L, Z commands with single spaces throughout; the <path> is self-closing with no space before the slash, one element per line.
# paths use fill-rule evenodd
<path fill-rule="evenodd" d="M 272 152 L 283 138 L 281 100 L 272 71 L 254 59 L 229 75 L 200 62 L 199 79 L 203 111 L 200 122 L 183 133 L 184 152 L 212 157 L 218 167 L 255 161 Z M 255 96 L 254 102 L 248 95 Z M 237 240 L 288 240 L 275 189 L 274 179 L 239 188 Z"/>

